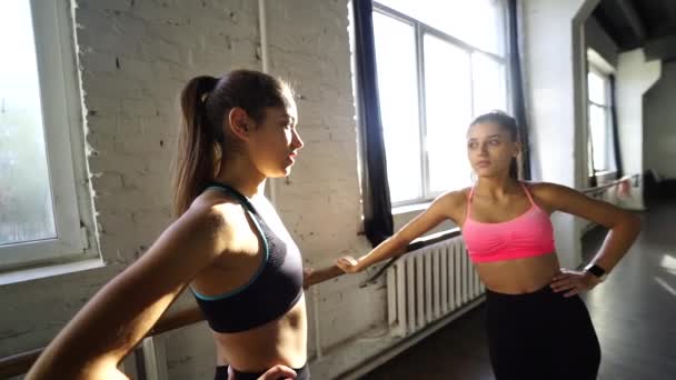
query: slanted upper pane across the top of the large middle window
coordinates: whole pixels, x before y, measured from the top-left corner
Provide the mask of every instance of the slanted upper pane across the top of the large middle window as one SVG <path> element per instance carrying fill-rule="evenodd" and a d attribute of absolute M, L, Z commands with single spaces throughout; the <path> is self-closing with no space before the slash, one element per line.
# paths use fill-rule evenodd
<path fill-rule="evenodd" d="M 504 54 L 503 17 L 497 0 L 378 0 L 479 49 Z"/>

